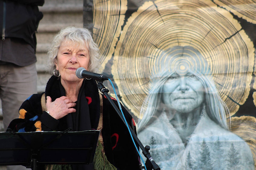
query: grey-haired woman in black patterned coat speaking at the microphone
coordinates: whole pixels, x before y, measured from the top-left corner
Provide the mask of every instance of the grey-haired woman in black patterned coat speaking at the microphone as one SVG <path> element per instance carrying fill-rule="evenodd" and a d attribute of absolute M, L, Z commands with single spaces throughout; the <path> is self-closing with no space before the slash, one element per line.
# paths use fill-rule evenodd
<path fill-rule="evenodd" d="M 53 76 L 45 93 L 31 95 L 19 109 L 19 118 L 9 128 L 16 132 L 101 130 L 100 144 L 110 162 L 110 169 L 139 169 L 139 159 L 125 124 L 106 97 L 98 92 L 93 79 L 79 79 L 76 70 L 84 67 L 97 72 L 98 46 L 86 28 L 62 29 L 49 50 Z M 42 103 L 46 104 L 41 104 Z M 117 101 L 113 99 L 117 104 Z M 43 106 L 44 105 L 44 106 Z M 46 110 L 42 111 L 42 107 Z M 135 130 L 133 118 L 122 108 L 126 120 Z M 124 154 L 125 153 L 125 154 Z M 96 169 L 90 165 L 71 165 L 73 170 Z"/>

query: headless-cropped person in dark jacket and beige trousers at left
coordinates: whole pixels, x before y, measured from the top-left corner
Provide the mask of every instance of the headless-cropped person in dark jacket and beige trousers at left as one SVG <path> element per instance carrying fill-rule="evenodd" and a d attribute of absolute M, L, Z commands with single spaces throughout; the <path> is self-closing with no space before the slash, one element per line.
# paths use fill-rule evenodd
<path fill-rule="evenodd" d="M 38 6 L 43 4 L 44 0 L 0 0 L 0 99 L 4 130 L 17 118 L 22 102 L 37 93 L 35 33 L 43 17 Z"/>

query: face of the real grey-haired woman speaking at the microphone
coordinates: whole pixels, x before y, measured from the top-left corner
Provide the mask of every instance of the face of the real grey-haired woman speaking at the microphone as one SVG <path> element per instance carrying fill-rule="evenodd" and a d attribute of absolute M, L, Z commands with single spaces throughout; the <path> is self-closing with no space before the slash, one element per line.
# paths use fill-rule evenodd
<path fill-rule="evenodd" d="M 88 70 L 90 62 L 89 49 L 86 45 L 79 47 L 69 40 L 62 42 L 55 62 L 56 69 L 61 79 L 66 82 L 80 82 L 75 72 L 79 67 Z"/>

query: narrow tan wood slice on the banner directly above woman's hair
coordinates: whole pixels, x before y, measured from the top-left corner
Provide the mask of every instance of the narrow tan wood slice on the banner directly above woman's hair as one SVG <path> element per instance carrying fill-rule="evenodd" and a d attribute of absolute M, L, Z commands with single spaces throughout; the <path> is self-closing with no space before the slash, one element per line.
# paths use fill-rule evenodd
<path fill-rule="evenodd" d="M 93 1 L 93 38 L 99 46 L 102 70 L 114 53 L 124 23 L 127 1 Z M 102 71 L 101 70 L 101 71 Z"/>

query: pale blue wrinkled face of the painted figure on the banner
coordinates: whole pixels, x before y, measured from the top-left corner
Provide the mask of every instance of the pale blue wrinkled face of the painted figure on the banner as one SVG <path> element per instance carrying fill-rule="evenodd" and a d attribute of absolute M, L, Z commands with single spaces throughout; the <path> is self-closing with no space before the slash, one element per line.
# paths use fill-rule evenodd
<path fill-rule="evenodd" d="M 205 100 L 205 88 L 191 73 L 171 75 L 163 85 L 162 93 L 165 106 L 180 113 L 193 111 Z"/>

